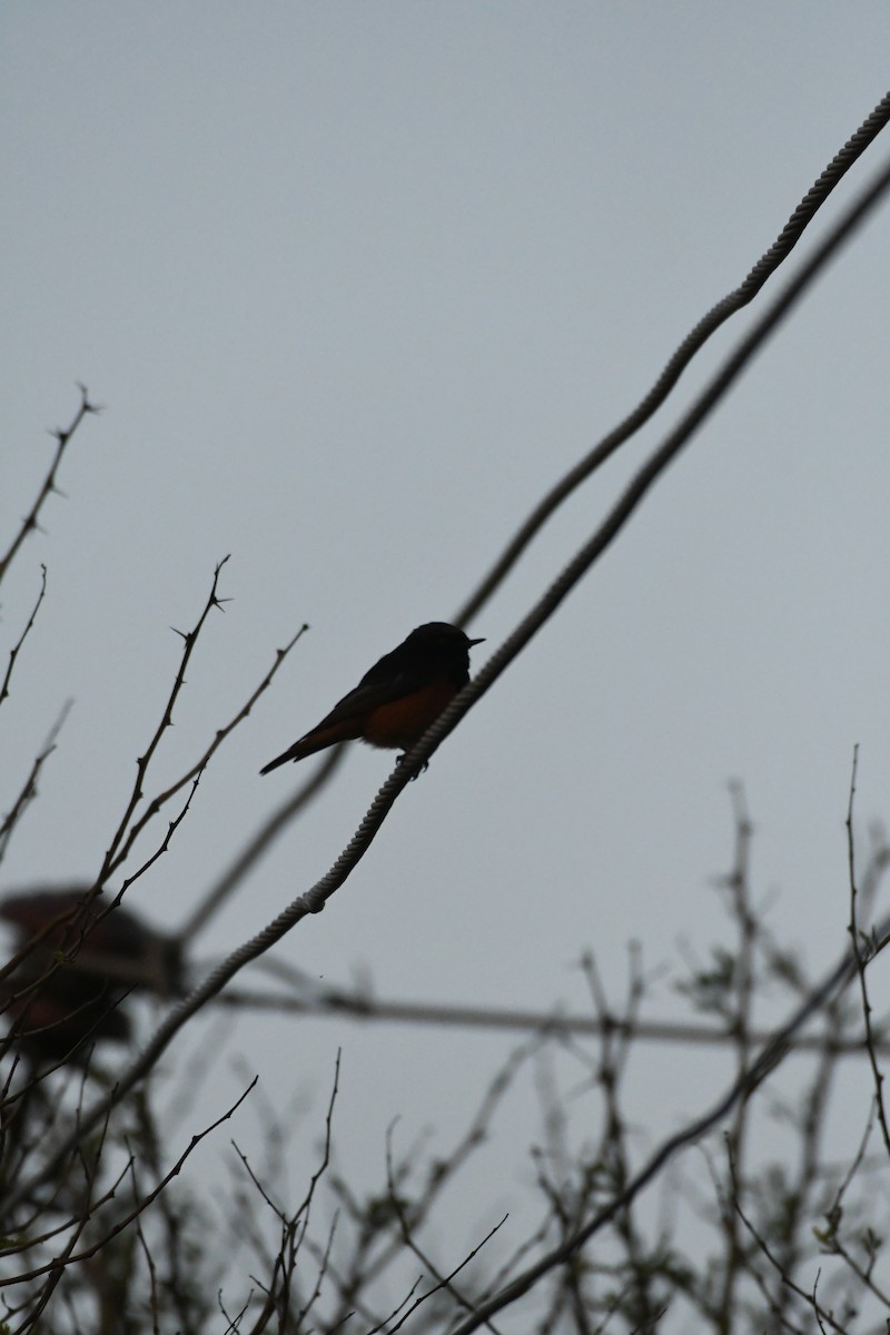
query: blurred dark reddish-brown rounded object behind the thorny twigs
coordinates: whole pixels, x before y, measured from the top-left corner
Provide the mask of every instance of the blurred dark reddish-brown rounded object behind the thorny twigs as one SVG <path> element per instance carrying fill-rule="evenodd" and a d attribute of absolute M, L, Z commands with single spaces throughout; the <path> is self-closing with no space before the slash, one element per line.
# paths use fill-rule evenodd
<path fill-rule="evenodd" d="M 87 885 L 24 890 L 0 901 L 16 940 L 12 969 L 0 979 L 9 1036 L 40 1064 L 85 1060 L 95 1043 L 125 1043 L 133 991 L 181 991 L 181 951 L 128 909 Z"/>

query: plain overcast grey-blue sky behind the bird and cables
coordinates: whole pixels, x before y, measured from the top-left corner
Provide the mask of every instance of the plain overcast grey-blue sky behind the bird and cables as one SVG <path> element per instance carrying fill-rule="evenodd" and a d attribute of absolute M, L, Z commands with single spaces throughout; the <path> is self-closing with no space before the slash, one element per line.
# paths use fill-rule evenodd
<path fill-rule="evenodd" d="M 193 622 L 231 553 L 234 601 L 189 670 L 160 785 L 312 629 L 128 900 L 181 921 L 303 777 L 260 765 L 412 626 L 456 611 L 741 282 L 885 92 L 889 27 L 865 0 L 7 3 L 4 534 L 75 382 L 105 411 L 4 590 L 11 643 L 47 563 L 0 717 L 3 809 L 75 708 L 3 886 L 95 874 L 176 668 L 168 627 Z M 878 214 L 834 264 L 282 957 L 330 981 L 368 972 L 387 996 L 583 1009 L 583 947 L 619 991 L 628 940 L 677 972 L 679 941 L 705 951 L 725 930 L 731 778 L 774 929 L 814 971 L 835 957 L 854 744 L 862 830 L 886 816 L 890 773 L 887 227 Z M 746 319 L 560 510 L 472 634 L 508 633 Z M 201 956 L 327 869 L 390 765 L 354 749 Z M 879 971 L 874 988 L 881 1005 Z M 315 1099 L 308 1149 L 342 1045 L 342 1159 L 374 1180 L 394 1113 L 406 1135 L 447 1136 L 508 1041 L 264 1017 L 230 1047 L 275 1105 Z M 686 1057 L 648 1060 L 640 1099 L 658 1084 L 664 1129 L 725 1073 L 697 1056 L 690 1083 Z M 205 1107 L 240 1079 L 220 1057 Z M 239 1141 L 260 1131 L 246 1111 Z M 492 1211 L 536 1133 L 530 1099 L 492 1149 Z M 472 1200 L 470 1223 L 487 1222 L 478 1180 Z"/>

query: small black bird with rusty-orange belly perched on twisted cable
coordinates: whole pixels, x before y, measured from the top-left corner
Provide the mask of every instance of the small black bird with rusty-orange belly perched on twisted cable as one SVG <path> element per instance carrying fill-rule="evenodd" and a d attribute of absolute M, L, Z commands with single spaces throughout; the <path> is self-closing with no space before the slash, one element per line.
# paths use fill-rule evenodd
<path fill-rule="evenodd" d="M 408 750 L 470 681 L 470 650 L 482 642 L 446 621 L 418 626 L 260 774 L 346 741 Z"/>

